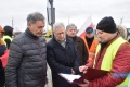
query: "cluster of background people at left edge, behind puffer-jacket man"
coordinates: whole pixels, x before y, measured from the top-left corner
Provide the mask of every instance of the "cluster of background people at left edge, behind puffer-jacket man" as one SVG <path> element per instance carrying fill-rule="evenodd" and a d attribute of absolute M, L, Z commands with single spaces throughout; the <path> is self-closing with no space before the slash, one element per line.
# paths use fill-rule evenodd
<path fill-rule="evenodd" d="M 4 87 L 6 60 L 9 59 L 9 48 L 12 42 L 13 28 L 11 26 L 0 26 L 0 87 Z"/>

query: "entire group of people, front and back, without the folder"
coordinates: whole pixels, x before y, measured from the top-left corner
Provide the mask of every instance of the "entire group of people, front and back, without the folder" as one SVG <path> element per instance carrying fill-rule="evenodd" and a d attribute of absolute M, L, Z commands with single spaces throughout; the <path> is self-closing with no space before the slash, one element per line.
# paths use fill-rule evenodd
<path fill-rule="evenodd" d="M 99 21 L 96 28 L 86 27 L 83 37 L 77 26 L 55 23 L 53 36 L 42 36 L 44 16 L 27 16 L 27 28 L 13 36 L 13 27 L 0 26 L 0 87 L 44 87 L 47 64 L 52 73 L 52 87 L 126 87 L 130 84 L 130 45 L 127 32 L 112 16 Z M 94 34 L 96 30 L 96 34 Z M 82 75 L 88 69 L 108 71 L 100 78 L 72 84 L 60 73 Z"/>

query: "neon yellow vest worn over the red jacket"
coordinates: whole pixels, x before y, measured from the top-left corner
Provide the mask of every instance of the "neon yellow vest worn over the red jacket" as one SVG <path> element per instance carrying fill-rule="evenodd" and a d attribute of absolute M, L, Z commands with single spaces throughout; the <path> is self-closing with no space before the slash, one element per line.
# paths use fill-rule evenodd
<path fill-rule="evenodd" d="M 115 55 L 119 49 L 119 47 L 127 42 L 126 40 L 123 40 L 121 37 L 117 38 L 107 49 L 106 49 L 106 53 L 103 57 L 103 61 L 101 64 L 101 70 L 105 70 L 105 71 L 110 71 L 112 66 L 113 66 L 113 60 L 115 59 Z M 98 52 L 100 51 L 101 46 L 99 45 L 95 51 L 95 59 L 98 55 Z M 95 67 L 95 59 L 94 59 L 94 64 L 93 67 Z M 118 85 L 117 87 L 123 87 L 128 85 L 128 82 L 130 82 L 129 76 L 125 79 L 125 82 L 122 82 L 120 85 Z"/>

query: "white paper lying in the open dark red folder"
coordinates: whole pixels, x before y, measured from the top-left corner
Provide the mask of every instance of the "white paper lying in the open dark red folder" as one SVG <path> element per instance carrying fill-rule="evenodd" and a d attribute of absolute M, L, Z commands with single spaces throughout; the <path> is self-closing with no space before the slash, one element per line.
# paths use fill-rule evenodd
<path fill-rule="evenodd" d="M 73 75 L 73 74 L 63 74 L 58 73 L 63 78 L 67 79 L 68 82 L 73 83 L 75 79 L 79 79 L 81 76 L 80 75 Z"/>

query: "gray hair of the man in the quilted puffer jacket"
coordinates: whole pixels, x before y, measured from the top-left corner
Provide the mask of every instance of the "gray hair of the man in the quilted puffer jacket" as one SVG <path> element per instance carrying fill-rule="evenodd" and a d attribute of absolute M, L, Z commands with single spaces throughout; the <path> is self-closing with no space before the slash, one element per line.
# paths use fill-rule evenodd
<path fill-rule="evenodd" d="M 43 21 L 44 22 L 44 16 L 39 12 L 34 12 L 34 13 L 28 14 L 27 23 L 34 24 L 37 21 Z"/>

